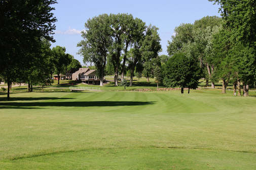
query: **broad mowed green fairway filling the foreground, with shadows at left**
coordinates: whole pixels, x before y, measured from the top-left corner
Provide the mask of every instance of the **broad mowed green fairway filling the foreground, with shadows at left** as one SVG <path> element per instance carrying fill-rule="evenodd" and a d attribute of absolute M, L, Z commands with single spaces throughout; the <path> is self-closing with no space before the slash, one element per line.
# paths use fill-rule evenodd
<path fill-rule="evenodd" d="M 219 90 L 4 97 L 1 169 L 256 169 L 255 97 Z"/>

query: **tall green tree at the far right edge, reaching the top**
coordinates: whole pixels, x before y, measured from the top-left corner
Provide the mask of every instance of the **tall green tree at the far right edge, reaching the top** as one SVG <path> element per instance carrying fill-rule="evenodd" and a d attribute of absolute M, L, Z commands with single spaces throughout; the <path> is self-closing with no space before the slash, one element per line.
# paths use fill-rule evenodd
<path fill-rule="evenodd" d="M 209 0 L 220 5 L 224 28 L 230 32 L 231 48 L 237 51 L 238 76 L 243 82 L 244 96 L 255 80 L 256 6 L 251 0 Z M 243 52 L 243 53 L 241 53 Z"/>

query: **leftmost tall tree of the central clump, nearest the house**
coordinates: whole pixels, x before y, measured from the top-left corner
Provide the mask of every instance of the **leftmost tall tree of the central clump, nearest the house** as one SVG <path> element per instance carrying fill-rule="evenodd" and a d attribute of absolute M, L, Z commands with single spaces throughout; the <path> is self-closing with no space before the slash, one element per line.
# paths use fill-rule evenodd
<path fill-rule="evenodd" d="M 103 86 L 107 56 L 113 52 L 113 45 L 119 46 L 119 44 L 113 44 L 111 22 L 112 20 L 107 14 L 89 19 L 85 23 L 86 31 L 82 32 L 84 40 L 78 43 L 78 46 L 81 47 L 79 53 L 84 56 L 84 63 L 90 62 L 96 66 L 100 86 Z M 119 47 L 118 49 L 121 49 L 121 46 Z M 114 52 L 114 54 L 118 55 L 118 59 L 120 59 L 118 53 Z"/>

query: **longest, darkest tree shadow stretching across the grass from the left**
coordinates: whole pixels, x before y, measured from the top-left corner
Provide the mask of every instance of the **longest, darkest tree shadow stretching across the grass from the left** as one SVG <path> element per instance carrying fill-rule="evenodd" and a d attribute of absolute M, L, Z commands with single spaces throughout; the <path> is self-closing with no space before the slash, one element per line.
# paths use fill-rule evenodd
<path fill-rule="evenodd" d="M 64 101 L 64 102 L 4 102 L 0 108 L 35 108 L 44 106 L 62 107 L 102 107 L 102 106 L 135 106 L 154 104 L 155 101 Z"/>

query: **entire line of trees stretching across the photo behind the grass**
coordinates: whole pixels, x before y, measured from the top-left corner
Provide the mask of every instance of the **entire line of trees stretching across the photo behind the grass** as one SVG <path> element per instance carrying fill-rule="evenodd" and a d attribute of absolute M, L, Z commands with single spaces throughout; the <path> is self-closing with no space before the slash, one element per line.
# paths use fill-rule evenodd
<path fill-rule="evenodd" d="M 222 80 L 222 92 L 233 84 L 234 93 L 248 96 L 256 79 L 256 6 L 250 0 L 209 0 L 221 6 L 220 17 L 203 17 L 193 24 L 181 24 L 168 41 L 168 55 L 161 49 L 158 28 L 130 14 L 102 14 L 85 23 L 78 43 L 84 63 L 93 64 L 103 85 L 106 74 L 114 74 L 115 86 L 124 79 L 155 78 L 158 85 L 195 89 L 204 78 L 211 88 Z M 8 84 L 27 83 L 42 89 L 52 75 L 82 67 L 65 47 L 50 48 L 57 21 L 55 0 L 0 1 L 0 79 Z"/>

